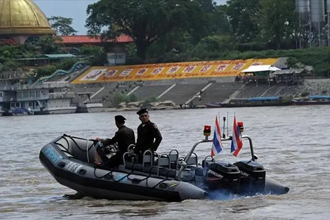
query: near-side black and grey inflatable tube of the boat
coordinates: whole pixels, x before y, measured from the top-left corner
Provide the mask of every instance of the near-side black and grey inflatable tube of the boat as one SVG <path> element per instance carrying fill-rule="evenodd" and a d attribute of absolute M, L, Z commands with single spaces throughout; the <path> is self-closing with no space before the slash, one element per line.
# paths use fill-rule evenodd
<path fill-rule="evenodd" d="M 45 151 L 48 151 L 48 153 L 45 153 Z M 49 153 L 50 151 L 52 153 Z M 207 195 L 204 190 L 197 188 L 197 186 L 175 180 L 149 178 L 146 186 L 145 181 L 139 181 L 146 179 L 145 176 L 129 175 L 126 179 L 114 181 L 119 175 L 124 176 L 127 173 L 95 169 L 90 164 L 81 163 L 74 159 L 65 159 L 60 153 L 55 152 L 51 145 L 45 146 L 41 150 L 39 159 L 58 183 L 90 197 L 100 199 L 183 201 L 185 199 L 204 199 Z M 69 168 L 71 170 L 67 170 L 67 164 L 70 163 L 74 163 L 74 166 Z M 83 175 L 81 170 L 87 170 L 85 175 Z M 107 173 L 109 176 L 107 176 Z M 110 177 L 111 175 L 113 177 Z M 133 181 L 130 179 L 133 179 Z"/>

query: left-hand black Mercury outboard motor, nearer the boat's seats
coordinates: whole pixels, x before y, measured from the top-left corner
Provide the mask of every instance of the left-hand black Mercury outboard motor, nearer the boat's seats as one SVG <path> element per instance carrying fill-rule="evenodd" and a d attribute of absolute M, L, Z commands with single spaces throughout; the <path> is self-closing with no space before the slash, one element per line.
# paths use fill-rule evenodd
<path fill-rule="evenodd" d="M 217 162 L 209 164 L 205 173 L 205 184 L 210 190 L 227 189 L 239 192 L 241 173 L 233 164 Z"/>

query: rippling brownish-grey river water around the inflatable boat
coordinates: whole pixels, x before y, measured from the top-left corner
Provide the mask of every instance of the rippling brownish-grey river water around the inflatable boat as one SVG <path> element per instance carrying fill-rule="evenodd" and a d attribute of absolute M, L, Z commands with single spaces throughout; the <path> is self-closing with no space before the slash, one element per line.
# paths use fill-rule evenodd
<path fill-rule="evenodd" d="M 214 127 L 215 115 L 233 115 L 244 122 L 244 135 L 254 142 L 258 162 L 267 176 L 289 186 L 286 195 L 219 197 L 217 200 L 108 201 L 68 199 L 74 190 L 58 184 L 39 162 L 39 151 L 67 133 L 78 137 L 109 137 L 116 131 L 113 116 L 123 114 L 126 125 L 140 123 L 135 112 L 30 115 L 0 117 L 0 219 L 329 219 L 329 106 L 255 107 L 151 111 L 163 142 L 160 153 L 177 148 L 181 154 L 203 138 L 203 126 Z M 227 122 L 225 122 L 227 125 Z M 245 142 L 245 147 L 248 143 Z M 199 158 L 211 143 L 197 146 Z M 248 147 L 238 158 L 225 144 L 217 158 L 229 162 L 250 158 Z"/>

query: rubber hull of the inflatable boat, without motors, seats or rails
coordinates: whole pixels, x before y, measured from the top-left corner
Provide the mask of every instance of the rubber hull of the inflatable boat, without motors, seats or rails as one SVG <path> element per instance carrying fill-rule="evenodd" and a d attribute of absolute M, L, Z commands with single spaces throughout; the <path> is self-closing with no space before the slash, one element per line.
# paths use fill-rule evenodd
<path fill-rule="evenodd" d="M 72 157 L 75 155 L 75 158 Z M 188 179 L 177 180 L 177 170 L 165 169 L 159 172 L 157 167 L 145 167 L 141 170 L 139 165 L 122 165 L 118 170 L 107 170 L 94 167 L 95 142 L 63 135 L 50 144 L 45 145 L 39 154 L 41 164 L 49 170 L 51 175 L 63 186 L 72 188 L 84 195 L 100 199 L 124 200 L 155 200 L 155 201 L 183 201 L 185 199 L 205 199 L 212 188 L 206 186 L 203 177 L 203 168 L 196 168 L 185 175 Z M 236 167 L 234 165 L 230 167 Z M 237 167 L 236 167 L 237 168 Z M 199 172 L 197 172 L 199 170 Z M 232 170 L 232 168 L 230 168 Z M 170 171 L 170 172 L 169 172 Z M 237 177 L 239 170 L 237 168 Z M 174 172 L 174 173 L 173 173 Z M 157 174 L 157 175 L 156 175 Z M 225 173 L 221 173 L 225 175 Z M 186 176 L 187 177 L 187 176 Z M 263 175 L 265 177 L 265 175 Z M 254 179 L 254 178 L 252 178 Z M 260 178 L 259 178 L 260 179 Z M 282 195 L 289 188 L 269 177 L 263 178 L 264 184 L 247 181 L 250 192 L 235 190 L 239 195 L 272 194 Z M 220 188 L 229 190 L 229 188 Z M 214 190 L 214 189 L 213 189 Z M 219 190 L 219 188 L 215 188 Z"/>

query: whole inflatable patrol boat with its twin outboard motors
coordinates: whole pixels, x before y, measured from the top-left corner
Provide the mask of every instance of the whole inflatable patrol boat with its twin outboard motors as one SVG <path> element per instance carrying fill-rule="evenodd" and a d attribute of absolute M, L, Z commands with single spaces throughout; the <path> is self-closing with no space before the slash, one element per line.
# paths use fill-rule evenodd
<path fill-rule="evenodd" d="M 66 134 L 43 146 L 39 158 L 58 183 L 100 199 L 183 201 L 209 199 L 212 192 L 223 190 L 243 196 L 287 193 L 289 188 L 267 177 L 256 162 L 252 139 L 247 135 L 242 139 L 250 143 L 251 158 L 234 164 L 212 156 L 199 163 L 194 151 L 199 144 L 212 142 L 208 135 L 188 155 L 181 156 L 175 149 L 162 155 L 146 151 L 142 163 L 135 162 L 130 146 L 118 168 L 96 166 L 101 142 Z"/>

